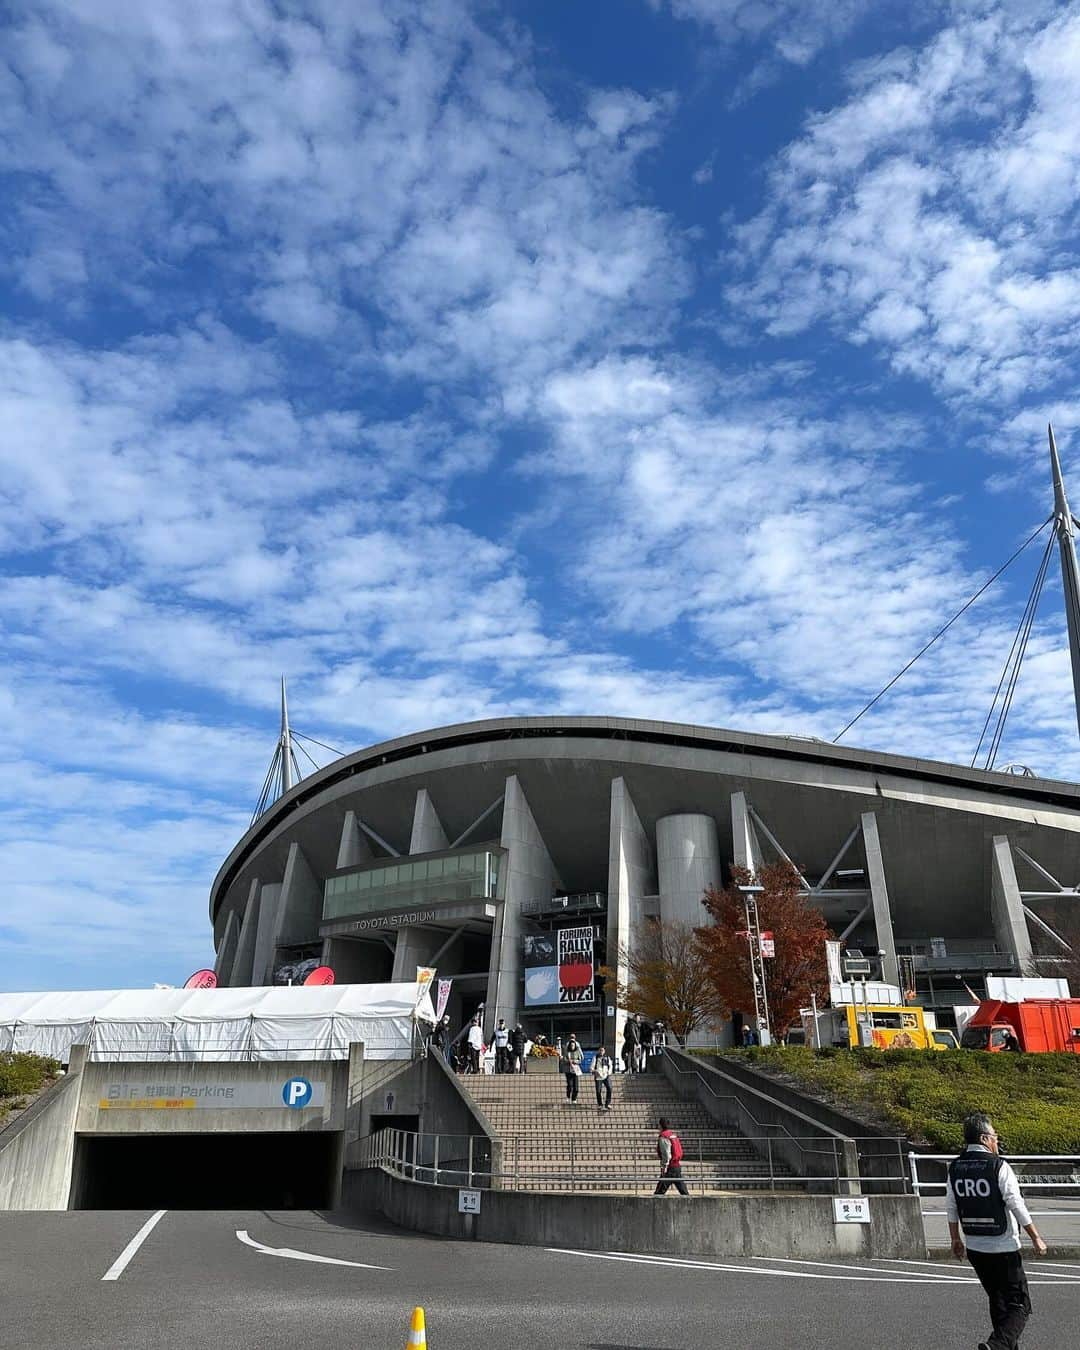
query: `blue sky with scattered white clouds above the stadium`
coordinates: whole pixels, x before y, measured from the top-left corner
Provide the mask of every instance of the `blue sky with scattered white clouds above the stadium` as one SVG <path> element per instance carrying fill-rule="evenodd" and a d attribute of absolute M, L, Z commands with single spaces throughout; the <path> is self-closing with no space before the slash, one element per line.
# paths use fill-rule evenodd
<path fill-rule="evenodd" d="M 1080 4 L 35 0 L 0 987 L 181 981 L 296 725 L 832 738 L 1080 497 Z M 849 733 L 968 763 L 1037 566 Z M 1076 778 L 1057 566 L 1000 763 Z"/>

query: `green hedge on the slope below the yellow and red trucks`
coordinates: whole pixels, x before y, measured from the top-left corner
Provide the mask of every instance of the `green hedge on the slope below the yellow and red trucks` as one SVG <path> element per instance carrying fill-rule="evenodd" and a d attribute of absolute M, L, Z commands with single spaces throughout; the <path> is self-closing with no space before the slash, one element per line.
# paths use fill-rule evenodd
<path fill-rule="evenodd" d="M 941 1152 L 959 1149 L 963 1120 L 988 1112 L 1010 1153 L 1080 1153 L 1080 1056 L 967 1050 L 725 1052 L 790 1075 L 837 1106 L 869 1114 Z"/>

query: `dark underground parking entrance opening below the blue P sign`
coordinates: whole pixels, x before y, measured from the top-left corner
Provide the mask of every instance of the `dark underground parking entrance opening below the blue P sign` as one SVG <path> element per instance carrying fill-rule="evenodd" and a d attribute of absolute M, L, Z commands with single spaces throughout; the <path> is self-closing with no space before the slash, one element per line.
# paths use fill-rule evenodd
<path fill-rule="evenodd" d="M 76 1139 L 73 1210 L 327 1210 L 342 1135 L 138 1134 Z"/>

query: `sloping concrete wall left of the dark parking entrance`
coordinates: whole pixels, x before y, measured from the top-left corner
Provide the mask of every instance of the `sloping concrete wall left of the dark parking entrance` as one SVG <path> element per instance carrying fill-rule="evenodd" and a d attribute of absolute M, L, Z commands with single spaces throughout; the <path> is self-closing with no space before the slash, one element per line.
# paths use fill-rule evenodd
<path fill-rule="evenodd" d="M 0 1210 L 68 1208 L 85 1056 L 72 1046 L 68 1073 L 0 1130 Z"/>

